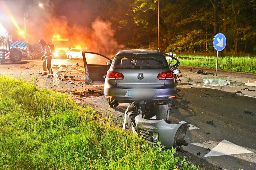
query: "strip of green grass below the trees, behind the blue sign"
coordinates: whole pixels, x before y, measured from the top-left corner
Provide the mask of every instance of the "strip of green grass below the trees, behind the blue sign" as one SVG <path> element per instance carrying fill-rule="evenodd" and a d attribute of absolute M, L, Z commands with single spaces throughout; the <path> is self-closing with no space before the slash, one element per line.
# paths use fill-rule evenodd
<path fill-rule="evenodd" d="M 176 54 L 181 65 L 216 68 L 216 56 Z M 256 73 L 256 56 L 219 56 L 218 69 Z"/>

